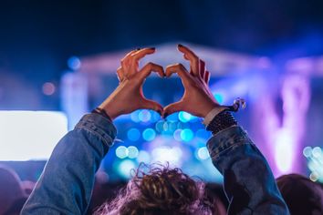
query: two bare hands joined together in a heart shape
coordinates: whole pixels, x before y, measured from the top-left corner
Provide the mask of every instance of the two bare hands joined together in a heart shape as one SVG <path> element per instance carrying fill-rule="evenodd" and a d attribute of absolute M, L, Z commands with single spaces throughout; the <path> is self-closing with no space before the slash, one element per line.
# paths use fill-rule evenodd
<path fill-rule="evenodd" d="M 203 60 L 186 46 L 179 45 L 178 50 L 190 61 L 189 72 L 182 64 L 166 67 L 165 73 L 161 66 L 154 63 L 148 63 L 139 69 L 139 60 L 153 54 L 155 48 L 142 48 L 128 53 L 121 59 L 121 67 L 117 70 L 120 85 L 99 107 L 103 108 L 112 119 L 136 109 L 152 109 L 159 112 L 163 118 L 178 111 L 186 111 L 204 118 L 214 107 L 223 108 L 214 99 L 208 87 L 210 72 L 206 70 Z M 184 87 L 181 100 L 162 107 L 161 104 L 144 97 L 142 86 L 151 72 L 156 72 L 160 77 L 178 74 Z"/>

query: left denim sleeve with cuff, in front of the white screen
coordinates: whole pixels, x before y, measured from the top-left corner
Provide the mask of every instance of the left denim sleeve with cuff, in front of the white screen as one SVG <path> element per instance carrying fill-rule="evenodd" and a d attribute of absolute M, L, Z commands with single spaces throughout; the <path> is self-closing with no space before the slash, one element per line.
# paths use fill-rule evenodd
<path fill-rule="evenodd" d="M 116 133 L 98 114 L 81 118 L 54 148 L 21 214 L 84 214 L 94 175 Z"/>

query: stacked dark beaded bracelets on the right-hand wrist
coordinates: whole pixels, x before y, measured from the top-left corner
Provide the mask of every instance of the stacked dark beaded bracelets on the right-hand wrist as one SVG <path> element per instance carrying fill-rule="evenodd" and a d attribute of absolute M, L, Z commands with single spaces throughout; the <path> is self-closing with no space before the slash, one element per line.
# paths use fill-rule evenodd
<path fill-rule="evenodd" d="M 206 127 L 206 130 L 210 130 L 213 135 L 217 134 L 225 128 L 236 126 L 238 123 L 234 119 L 234 116 L 228 110 L 224 110 L 216 115 Z"/>

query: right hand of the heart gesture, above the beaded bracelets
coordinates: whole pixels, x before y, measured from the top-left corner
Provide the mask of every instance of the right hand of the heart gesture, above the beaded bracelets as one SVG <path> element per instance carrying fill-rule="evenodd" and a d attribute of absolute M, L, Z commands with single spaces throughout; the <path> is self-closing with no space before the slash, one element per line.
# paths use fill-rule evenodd
<path fill-rule="evenodd" d="M 210 72 L 206 71 L 203 60 L 188 47 L 179 45 L 178 50 L 184 54 L 186 60 L 190 61 L 191 69 L 188 73 L 182 64 L 166 67 L 166 77 L 177 73 L 182 79 L 185 91 L 179 102 L 164 107 L 164 118 L 178 111 L 186 111 L 201 118 L 205 118 L 214 107 L 219 108 L 219 112 L 222 111 L 225 107 L 219 105 L 208 87 Z"/>

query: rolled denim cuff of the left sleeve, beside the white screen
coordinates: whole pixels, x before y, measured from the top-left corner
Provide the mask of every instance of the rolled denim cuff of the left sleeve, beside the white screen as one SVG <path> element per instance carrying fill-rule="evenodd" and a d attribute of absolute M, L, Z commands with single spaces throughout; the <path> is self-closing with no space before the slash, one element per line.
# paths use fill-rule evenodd
<path fill-rule="evenodd" d="M 75 129 L 78 128 L 85 128 L 99 136 L 109 147 L 113 145 L 113 140 L 117 136 L 117 128 L 115 128 L 113 123 L 108 118 L 95 113 L 87 114 L 81 118 Z"/>

